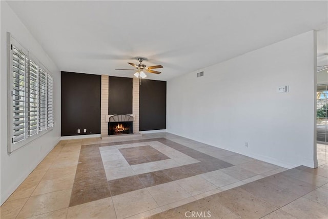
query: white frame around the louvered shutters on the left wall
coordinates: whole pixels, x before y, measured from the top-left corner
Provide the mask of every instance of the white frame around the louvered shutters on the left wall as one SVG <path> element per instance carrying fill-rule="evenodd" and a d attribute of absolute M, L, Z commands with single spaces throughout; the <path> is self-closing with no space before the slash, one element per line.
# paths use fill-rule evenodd
<path fill-rule="evenodd" d="M 27 56 L 27 60 L 28 60 L 28 68 L 25 68 L 25 83 L 24 83 L 24 138 L 22 141 L 16 142 L 14 143 L 13 141 L 13 134 L 14 134 L 14 88 L 13 88 L 13 47 L 16 48 L 19 51 L 22 51 L 26 56 Z M 42 136 L 43 134 L 51 131 L 54 127 L 54 115 L 53 115 L 53 109 L 54 109 L 54 105 L 53 105 L 53 76 L 49 73 L 49 70 L 47 68 L 45 68 L 38 60 L 37 58 L 35 58 L 33 55 L 31 55 L 29 53 L 29 51 L 27 49 L 25 49 L 9 32 L 7 32 L 7 91 L 8 91 L 8 95 L 7 95 L 7 100 L 8 100 L 8 154 L 12 153 L 13 151 L 27 145 L 28 143 L 34 141 L 36 138 Z M 30 94 L 31 90 L 30 87 L 26 87 L 27 84 L 26 82 L 28 81 L 27 76 L 30 77 L 30 62 L 33 62 L 37 65 L 37 112 L 36 112 L 36 116 L 37 116 L 37 131 L 36 133 L 34 133 L 32 136 L 28 135 L 27 133 L 30 131 L 30 129 L 27 129 L 27 123 L 28 121 L 28 112 L 27 112 L 27 104 L 30 104 L 30 100 L 27 100 L 28 95 Z M 39 72 L 40 69 L 42 69 L 44 72 L 46 72 L 46 125 L 45 125 L 45 129 L 44 130 L 39 130 L 39 123 L 40 123 L 40 116 L 39 116 L 39 104 L 40 104 L 40 95 L 39 95 Z M 50 79 L 49 79 L 50 78 Z M 48 102 L 48 79 L 52 81 L 52 99 L 50 100 L 51 102 Z M 30 82 L 30 81 L 28 81 Z M 52 107 L 52 114 L 51 114 L 51 120 L 48 119 L 48 113 L 49 111 L 51 111 L 51 108 L 48 109 L 48 106 Z M 29 106 L 30 107 L 30 106 Z M 48 120 L 52 122 L 52 124 L 48 124 Z M 30 127 L 29 127 L 30 128 Z"/>

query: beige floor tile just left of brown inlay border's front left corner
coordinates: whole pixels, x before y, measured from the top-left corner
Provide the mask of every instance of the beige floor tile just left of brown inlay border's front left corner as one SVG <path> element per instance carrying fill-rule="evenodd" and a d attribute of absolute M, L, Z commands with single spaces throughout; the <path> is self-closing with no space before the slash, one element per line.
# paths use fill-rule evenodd
<path fill-rule="evenodd" d="M 31 196 L 19 212 L 17 218 L 36 216 L 39 214 L 68 208 L 71 189 Z"/>

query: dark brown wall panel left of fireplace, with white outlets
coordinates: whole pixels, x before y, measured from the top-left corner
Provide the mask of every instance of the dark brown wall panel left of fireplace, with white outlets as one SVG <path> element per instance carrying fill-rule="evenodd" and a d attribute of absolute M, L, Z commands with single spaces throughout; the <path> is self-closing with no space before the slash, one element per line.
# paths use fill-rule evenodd
<path fill-rule="evenodd" d="M 101 75 L 62 71 L 61 136 L 100 134 L 100 98 Z"/>

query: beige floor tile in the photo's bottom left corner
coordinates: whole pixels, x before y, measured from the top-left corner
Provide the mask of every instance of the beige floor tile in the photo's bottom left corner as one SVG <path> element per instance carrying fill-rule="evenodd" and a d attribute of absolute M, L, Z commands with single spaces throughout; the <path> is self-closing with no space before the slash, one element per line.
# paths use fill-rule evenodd
<path fill-rule="evenodd" d="M 16 218 L 20 209 L 23 208 L 23 206 L 25 205 L 27 200 L 28 200 L 28 198 L 19 198 L 14 201 L 5 202 L 1 206 L 0 218 L 6 218 L 6 219 Z"/>

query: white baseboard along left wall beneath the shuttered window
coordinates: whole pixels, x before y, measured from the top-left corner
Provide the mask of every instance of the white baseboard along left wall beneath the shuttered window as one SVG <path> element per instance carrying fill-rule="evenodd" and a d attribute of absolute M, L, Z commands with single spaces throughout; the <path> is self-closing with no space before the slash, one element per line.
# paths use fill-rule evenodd
<path fill-rule="evenodd" d="M 39 163 L 41 163 L 44 158 L 50 153 L 50 151 L 59 143 L 60 138 L 58 137 L 58 140 L 56 141 L 56 143 L 53 145 L 53 147 L 48 150 L 45 153 L 44 157 L 41 157 L 36 163 L 34 163 L 33 165 L 31 165 L 31 168 L 29 168 L 27 171 L 25 171 L 24 174 L 22 174 L 22 176 L 20 176 L 19 178 L 17 178 L 17 180 L 15 180 L 15 182 L 13 182 L 11 184 L 11 187 L 9 189 L 6 189 L 6 191 L 2 191 L 1 195 L 0 195 L 0 206 L 2 204 L 5 203 L 5 201 L 10 197 L 10 195 L 18 188 L 18 186 L 20 186 L 20 184 L 22 184 L 24 182 L 24 180 L 31 174 L 31 172 L 37 167 L 37 165 L 39 165 Z"/>

